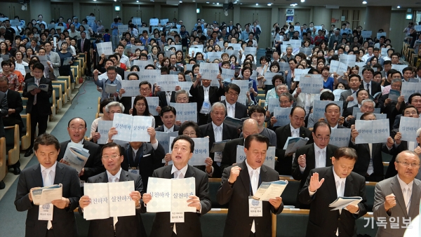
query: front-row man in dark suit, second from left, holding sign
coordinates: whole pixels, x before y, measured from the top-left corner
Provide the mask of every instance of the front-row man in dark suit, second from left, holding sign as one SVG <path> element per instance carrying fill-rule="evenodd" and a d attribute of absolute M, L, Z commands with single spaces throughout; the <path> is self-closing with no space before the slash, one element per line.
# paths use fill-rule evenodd
<path fill-rule="evenodd" d="M 135 191 L 130 195 L 132 201 L 135 201 L 136 215 L 127 217 L 116 217 L 117 222 L 114 224 L 114 217 L 107 219 L 93 219 L 89 225 L 88 236 L 128 236 L 138 237 L 146 236 L 145 227 L 143 226 L 140 213 L 145 213 L 145 205 L 142 205 L 141 195 L 144 193 L 142 185 L 142 177 L 140 175 L 127 172 L 121 168 L 123 163 L 123 154 L 119 144 L 109 142 L 102 147 L 101 157 L 107 171 L 95 175 L 88 179 L 89 183 L 107 183 L 107 182 L 125 182 L 133 180 L 135 183 Z M 79 213 L 83 215 L 83 208 L 91 203 L 89 196 L 82 196 L 79 200 Z"/>

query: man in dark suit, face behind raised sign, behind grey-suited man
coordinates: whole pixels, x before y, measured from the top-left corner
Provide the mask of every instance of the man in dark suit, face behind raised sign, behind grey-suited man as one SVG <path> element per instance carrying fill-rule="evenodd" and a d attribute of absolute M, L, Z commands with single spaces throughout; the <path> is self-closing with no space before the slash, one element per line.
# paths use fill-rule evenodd
<path fill-rule="evenodd" d="M 375 120 L 373 113 L 365 113 L 361 116 L 361 120 Z M 394 140 L 392 137 L 387 138 L 387 143 L 364 143 L 355 144 L 355 138 L 359 135 L 355 125 L 352 126 L 351 141 L 349 147 L 356 149 L 358 161 L 354 165 L 354 172 L 362 175 L 367 181 L 380 182 L 384 179 L 382 152 L 385 154 L 393 154 Z"/>

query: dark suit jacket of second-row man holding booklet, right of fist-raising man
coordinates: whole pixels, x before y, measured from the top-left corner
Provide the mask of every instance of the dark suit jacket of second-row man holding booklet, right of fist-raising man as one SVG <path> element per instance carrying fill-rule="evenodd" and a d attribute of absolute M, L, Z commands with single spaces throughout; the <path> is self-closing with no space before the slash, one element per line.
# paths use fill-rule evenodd
<path fill-rule="evenodd" d="M 291 137 L 291 127 L 290 124 L 276 128 L 276 157 L 278 157 L 278 162 L 275 162 L 275 170 L 279 172 L 279 175 L 291 175 L 291 170 L 293 168 L 293 156 L 286 156 L 283 146 L 288 140 L 288 137 Z M 308 137 L 309 141 L 307 144 L 313 143 L 312 132 L 305 127 L 300 128 L 300 137 Z"/>

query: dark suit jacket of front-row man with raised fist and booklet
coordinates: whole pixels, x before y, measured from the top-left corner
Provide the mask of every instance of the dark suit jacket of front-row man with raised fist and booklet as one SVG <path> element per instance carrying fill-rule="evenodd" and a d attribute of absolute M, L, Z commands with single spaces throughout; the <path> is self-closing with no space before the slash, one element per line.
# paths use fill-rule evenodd
<path fill-rule="evenodd" d="M 283 203 L 278 210 L 269 202 L 262 202 L 262 217 L 248 216 L 248 196 L 253 193 L 250 190 L 250 176 L 246 161 L 236 164 L 241 168 L 239 177 L 236 182 L 230 185 L 228 183 L 231 168 L 225 168 L 222 175 L 221 186 L 216 193 L 218 203 L 224 205 L 229 203 L 227 220 L 225 221 L 224 236 L 249 236 L 253 219 L 255 221 L 255 236 L 271 236 L 272 231 L 272 213 L 279 214 L 283 210 Z M 279 180 L 278 172 L 272 168 L 262 165 L 260 167 L 260 183 L 272 182 Z M 253 195 L 253 194 L 252 194 Z"/>

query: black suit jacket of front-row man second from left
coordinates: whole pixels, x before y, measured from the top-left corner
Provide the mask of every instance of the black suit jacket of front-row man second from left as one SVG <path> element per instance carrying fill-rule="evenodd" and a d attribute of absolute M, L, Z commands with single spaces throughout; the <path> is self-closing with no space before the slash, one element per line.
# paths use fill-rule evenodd
<path fill-rule="evenodd" d="M 144 193 L 142 186 L 142 177 L 135 175 L 125 170 L 121 170 L 119 182 L 131 181 L 135 182 L 135 191 L 139 191 L 141 195 Z M 102 172 L 99 175 L 95 175 L 88 179 L 89 183 L 107 183 L 108 175 L 107 172 Z M 127 194 L 128 195 L 128 194 Z M 139 237 L 146 236 L 145 227 L 143 226 L 142 218 L 140 213 L 145 213 L 145 205 L 142 205 L 143 201 L 140 201 L 140 208 L 136 208 L 136 215 L 128 217 L 119 217 L 119 221 L 116 223 L 116 236 L 127 236 L 127 237 Z M 79 213 L 83 215 L 81 208 Z M 93 219 L 89 224 L 89 237 L 104 236 L 114 237 L 114 226 L 113 217 L 107 219 Z"/>

